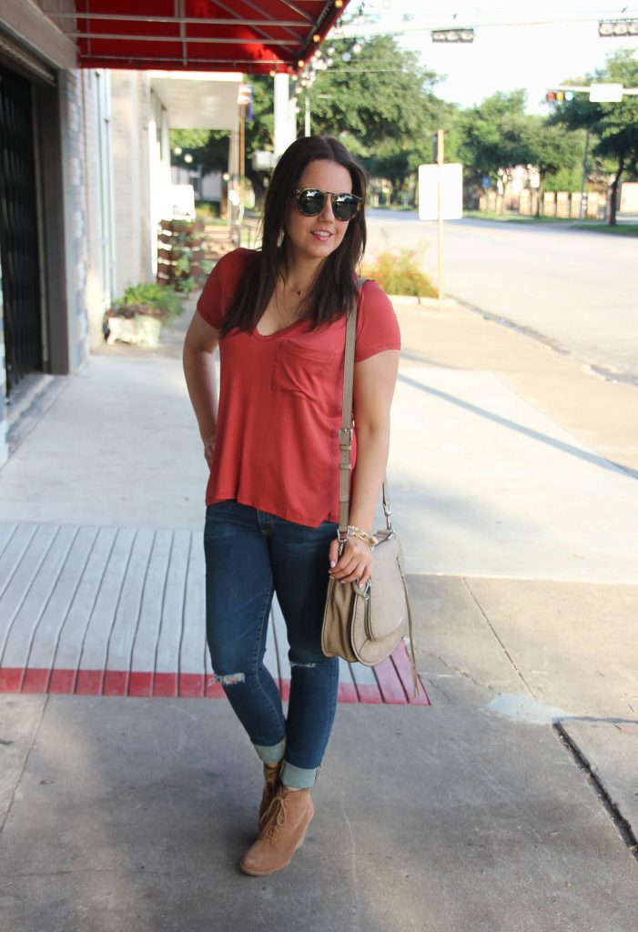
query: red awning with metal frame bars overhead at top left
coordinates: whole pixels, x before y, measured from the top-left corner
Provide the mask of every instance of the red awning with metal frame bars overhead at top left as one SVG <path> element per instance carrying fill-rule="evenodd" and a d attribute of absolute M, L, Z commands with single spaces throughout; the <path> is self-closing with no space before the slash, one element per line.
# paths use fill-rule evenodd
<path fill-rule="evenodd" d="M 81 68 L 296 72 L 348 0 L 75 0 Z M 75 30 L 70 23 L 75 18 Z"/>

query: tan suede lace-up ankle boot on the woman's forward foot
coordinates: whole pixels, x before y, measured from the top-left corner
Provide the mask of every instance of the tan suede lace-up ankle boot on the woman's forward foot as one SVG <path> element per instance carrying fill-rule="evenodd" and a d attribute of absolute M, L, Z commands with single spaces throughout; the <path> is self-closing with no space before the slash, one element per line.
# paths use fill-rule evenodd
<path fill-rule="evenodd" d="M 287 867 L 302 846 L 315 809 L 309 789 L 280 786 L 265 813 L 264 829 L 239 862 L 244 873 L 264 877 Z"/>

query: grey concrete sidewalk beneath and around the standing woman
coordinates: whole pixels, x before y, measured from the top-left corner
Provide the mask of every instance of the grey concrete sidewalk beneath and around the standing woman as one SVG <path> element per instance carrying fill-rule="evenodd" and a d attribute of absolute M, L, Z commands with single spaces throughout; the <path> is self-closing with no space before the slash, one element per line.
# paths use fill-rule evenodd
<path fill-rule="evenodd" d="M 259 767 L 224 699 L 1 695 L 7 929 L 635 928 L 638 392 L 465 308 L 396 307 L 389 475 L 432 705 L 342 703 L 305 847 L 254 881 L 235 864 Z M 67 555 L 91 533 L 144 553 L 197 541 L 205 463 L 180 330 L 156 354 L 93 357 L 0 471 L 0 590 L 31 645 L 59 631 L 74 569 L 50 569 L 47 535 L 67 535 Z M 48 579 L 24 550 L 3 580 L 19 532 L 42 541 Z M 201 569 L 188 546 L 184 578 Z M 148 569 L 131 544 L 117 608 L 102 598 L 112 651 L 139 622 L 136 555 Z M 197 637 L 182 630 L 181 650 Z"/>

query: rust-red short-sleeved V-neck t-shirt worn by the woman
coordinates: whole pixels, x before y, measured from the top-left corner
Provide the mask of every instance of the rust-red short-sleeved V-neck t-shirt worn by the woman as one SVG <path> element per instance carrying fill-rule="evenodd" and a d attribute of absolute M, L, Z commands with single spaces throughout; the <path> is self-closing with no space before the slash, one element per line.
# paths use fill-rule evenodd
<path fill-rule="evenodd" d="M 237 249 L 220 259 L 197 301 L 219 330 L 251 263 Z M 232 331 L 220 340 L 215 452 L 206 503 L 234 499 L 297 524 L 339 520 L 339 429 L 346 321 L 275 334 Z M 399 323 L 374 281 L 360 288 L 355 361 L 400 349 Z M 356 412 L 355 438 L 356 438 Z M 353 467 L 356 443 L 353 443 Z"/>

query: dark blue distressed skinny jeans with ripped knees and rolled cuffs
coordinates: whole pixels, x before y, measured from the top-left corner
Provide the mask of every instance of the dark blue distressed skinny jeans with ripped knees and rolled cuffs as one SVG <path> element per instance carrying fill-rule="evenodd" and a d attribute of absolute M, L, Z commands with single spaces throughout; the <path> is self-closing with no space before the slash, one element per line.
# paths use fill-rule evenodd
<path fill-rule="evenodd" d="M 206 511 L 206 627 L 210 661 L 265 763 L 283 760 L 282 782 L 312 787 L 336 711 L 339 661 L 321 652 L 328 548 L 337 526 L 285 521 L 234 500 Z M 264 665 L 273 593 L 288 631 L 288 717 Z"/>

